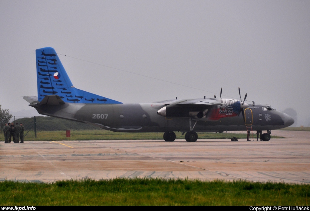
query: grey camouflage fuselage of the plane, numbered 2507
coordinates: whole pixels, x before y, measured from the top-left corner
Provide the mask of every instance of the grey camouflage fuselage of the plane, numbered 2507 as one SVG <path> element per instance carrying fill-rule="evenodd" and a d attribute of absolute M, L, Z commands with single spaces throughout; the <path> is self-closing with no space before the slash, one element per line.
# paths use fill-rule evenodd
<path fill-rule="evenodd" d="M 193 115 L 161 116 L 157 111 L 165 103 L 144 104 L 85 104 L 65 103 L 59 106 L 32 105 L 40 114 L 84 122 L 100 128 L 122 132 L 166 132 L 195 130 L 197 132 L 246 130 L 246 125 L 252 130 L 275 130 L 294 123 L 289 115 L 273 109 L 269 105 L 249 105 L 244 110 L 244 116 L 236 116 L 210 120 L 212 112 L 220 107 L 214 105 L 205 116 L 197 118 Z M 186 109 L 185 109 L 186 110 Z"/>

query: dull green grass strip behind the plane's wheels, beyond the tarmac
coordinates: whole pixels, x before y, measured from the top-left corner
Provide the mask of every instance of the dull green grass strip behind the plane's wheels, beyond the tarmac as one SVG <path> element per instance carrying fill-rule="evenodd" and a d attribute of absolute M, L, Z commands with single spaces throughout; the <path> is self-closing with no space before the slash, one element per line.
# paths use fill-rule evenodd
<path fill-rule="evenodd" d="M 185 139 L 181 132 L 177 132 L 176 139 Z M 246 139 L 246 134 L 238 133 L 197 133 L 199 139 Z M 253 134 L 256 140 L 256 132 Z M 3 140 L 3 136 L 1 137 Z M 283 138 L 271 136 L 271 138 Z M 72 130 L 71 137 L 66 137 L 66 131 L 38 131 L 37 138 L 34 132 L 30 131 L 25 137 L 25 141 L 61 141 L 61 140 L 141 140 L 157 139 L 163 140 L 163 133 L 122 133 L 108 130 Z"/>

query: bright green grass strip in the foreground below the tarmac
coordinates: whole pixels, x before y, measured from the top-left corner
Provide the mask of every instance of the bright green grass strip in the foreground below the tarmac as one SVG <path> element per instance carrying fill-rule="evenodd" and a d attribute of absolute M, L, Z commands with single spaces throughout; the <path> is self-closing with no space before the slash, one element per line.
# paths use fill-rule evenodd
<path fill-rule="evenodd" d="M 308 205 L 309 184 L 181 179 L 0 182 L 3 205 Z"/>

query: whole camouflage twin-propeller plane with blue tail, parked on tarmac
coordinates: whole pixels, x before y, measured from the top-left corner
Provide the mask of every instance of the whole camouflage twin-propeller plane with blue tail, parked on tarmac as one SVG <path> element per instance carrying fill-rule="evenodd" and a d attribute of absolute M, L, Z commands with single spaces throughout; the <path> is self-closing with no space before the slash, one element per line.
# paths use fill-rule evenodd
<path fill-rule="evenodd" d="M 270 130 L 290 126 L 294 119 L 269 105 L 254 101 L 214 98 L 165 100 L 143 104 L 123 104 L 77 89 L 53 48 L 36 50 L 38 97 L 24 97 L 39 114 L 84 122 L 120 132 L 163 132 L 165 141 L 174 141 L 175 132 L 195 142 L 199 132 L 225 130 Z M 222 92 L 222 91 L 221 91 Z M 248 102 L 248 101 L 247 101 Z M 241 114 L 241 115 L 240 115 Z"/>

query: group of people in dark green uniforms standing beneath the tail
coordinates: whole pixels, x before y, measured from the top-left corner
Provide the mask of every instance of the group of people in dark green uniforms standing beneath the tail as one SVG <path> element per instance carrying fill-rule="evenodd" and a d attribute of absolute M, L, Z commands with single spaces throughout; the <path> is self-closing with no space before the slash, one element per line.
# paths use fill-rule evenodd
<path fill-rule="evenodd" d="M 3 128 L 4 143 L 11 143 L 12 137 L 14 143 L 24 143 L 24 130 L 23 123 L 16 123 L 15 126 L 13 122 L 5 123 Z"/>

